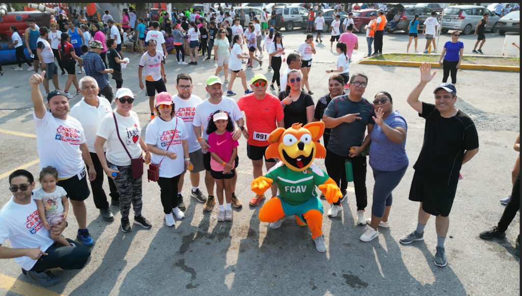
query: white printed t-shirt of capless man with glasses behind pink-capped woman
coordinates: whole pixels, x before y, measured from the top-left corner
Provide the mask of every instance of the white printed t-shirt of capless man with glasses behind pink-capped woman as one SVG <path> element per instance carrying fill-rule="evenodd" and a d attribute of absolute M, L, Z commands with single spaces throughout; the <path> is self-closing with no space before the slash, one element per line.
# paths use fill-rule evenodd
<path fill-rule="evenodd" d="M 203 100 L 195 95 L 192 95 L 186 100 L 180 98 L 178 95 L 175 95 L 172 97 L 172 100 L 174 101 L 174 108 L 176 109 L 176 117 L 182 119 L 185 123 L 185 130 L 188 135 L 188 153 L 198 151 L 201 149 L 201 146 L 197 142 L 196 134 L 194 133 L 194 128 L 192 127 L 192 122 L 194 121 L 194 116 L 196 114 L 196 106 L 199 105 Z"/>

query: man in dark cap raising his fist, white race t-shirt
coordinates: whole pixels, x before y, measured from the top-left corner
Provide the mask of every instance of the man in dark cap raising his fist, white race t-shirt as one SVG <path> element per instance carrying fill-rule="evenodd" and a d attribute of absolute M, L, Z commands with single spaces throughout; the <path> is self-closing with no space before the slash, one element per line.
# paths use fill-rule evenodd
<path fill-rule="evenodd" d="M 63 187 L 67 192 L 78 222 L 77 238 L 84 245 L 92 246 L 94 241 L 87 229 L 87 208 L 84 202 L 90 195 L 85 164 L 89 167 L 89 181 L 96 179 L 96 170 L 81 123 L 67 115 L 69 99 L 62 90 L 53 90 L 48 94 L 47 106 L 51 112 L 47 112 L 40 93 L 40 84 L 44 76 L 45 71 L 42 71 L 41 75 L 33 74 L 29 78 L 40 170 L 47 166 L 56 168 L 56 185 Z"/>

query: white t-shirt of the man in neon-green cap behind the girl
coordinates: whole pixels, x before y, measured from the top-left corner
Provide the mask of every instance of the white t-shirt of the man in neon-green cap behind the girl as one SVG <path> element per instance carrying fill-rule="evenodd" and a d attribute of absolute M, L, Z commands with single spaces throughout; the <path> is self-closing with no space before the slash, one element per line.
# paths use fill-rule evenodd
<path fill-rule="evenodd" d="M 208 121 L 212 118 L 212 114 L 217 110 L 227 111 L 230 118 L 234 120 L 234 126 L 236 121 L 243 118 L 243 113 L 239 109 L 238 104 L 229 97 L 223 96 L 218 104 L 210 103 L 209 99 L 204 100 L 201 104 L 196 106 L 196 115 L 192 124 L 195 127 L 203 125 L 203 138 L 205 140 L 208 140 Z"/>

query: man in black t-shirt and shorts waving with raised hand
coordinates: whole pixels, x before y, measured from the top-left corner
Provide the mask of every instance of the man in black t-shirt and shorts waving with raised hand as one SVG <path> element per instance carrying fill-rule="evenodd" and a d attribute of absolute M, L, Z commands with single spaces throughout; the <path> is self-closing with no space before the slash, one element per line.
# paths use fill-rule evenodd
<path fill-rule="evenodd" d="M 435 76 L 431 65 L 420 67 L 421 79 L 408 96 L 408 104 L 426 119 L 424 142 L 411 181 L 412 201 L 420 201 L 417 229 L 401 238 L 401 244 L 424 240 L 424 226 L 430 215 L 435 216 L 437 247 L 435 265 L 447 264 L 444 240 L 449 227 L 460 168 L 479 152 L 479 138 L 473 121 L 455 107 L 457 89 L 453 84 L 443 83 L 435 88 L 435 104 L 419 100 L 422 89 Z"/>

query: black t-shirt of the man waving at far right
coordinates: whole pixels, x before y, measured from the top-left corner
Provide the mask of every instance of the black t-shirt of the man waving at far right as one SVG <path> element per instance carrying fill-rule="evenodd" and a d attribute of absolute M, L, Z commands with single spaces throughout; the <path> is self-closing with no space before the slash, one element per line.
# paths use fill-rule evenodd
<path fill-rule="evenodd" d="M 457 177 L 466 150 L 479 147 L 479 136 L 471 118 L 458 110 L 457 115 L 444 118 L 435 105 L 422 102 L 426 119 L 424 141 L 414 169 L 425 173 Z"/>

